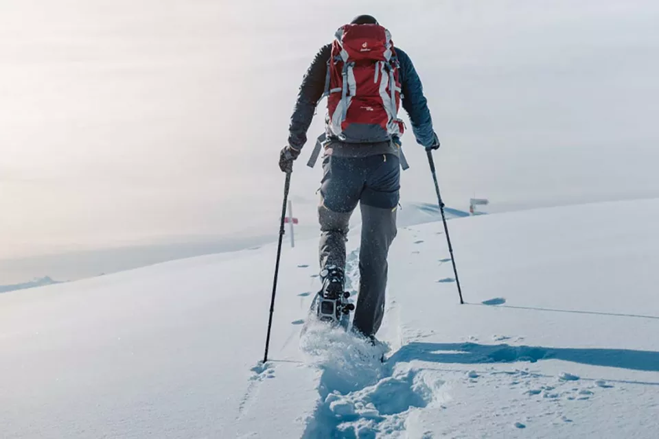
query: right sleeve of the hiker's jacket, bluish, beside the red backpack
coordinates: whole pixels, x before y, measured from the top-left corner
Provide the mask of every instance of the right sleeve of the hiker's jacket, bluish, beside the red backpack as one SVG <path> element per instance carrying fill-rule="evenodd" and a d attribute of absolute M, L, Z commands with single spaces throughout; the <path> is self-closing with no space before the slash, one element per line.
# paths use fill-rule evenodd
<path fill-rule="evenodd" d="M 439 144 L 437 134 L 432 130 L 432 118 L 428 110 L 428 102 L 424 96 L 424 88 L 421 78 L 417 74 L 410 57 L 401 49 L 396 47 L 398 62 L 400 62 L 400 82 L 402 88 L 402 104 L 410 116 L 412 131 L 417 143 L 424 147 Z"/>

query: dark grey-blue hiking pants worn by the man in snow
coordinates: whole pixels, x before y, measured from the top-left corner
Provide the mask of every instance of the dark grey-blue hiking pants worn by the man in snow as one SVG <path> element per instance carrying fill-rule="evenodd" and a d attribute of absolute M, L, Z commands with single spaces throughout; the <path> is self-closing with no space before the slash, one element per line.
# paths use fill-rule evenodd
<path fill-rule="evenodd" d="M 319 222 L 320 265 L 345 270 L 350 217 L 360 204 L 359 296 L 353 329 L 375 335 L 384 316 L 389 246 L 396 236 L 400 161 L 396 154 L 367 157 L 325 156 Z"/>

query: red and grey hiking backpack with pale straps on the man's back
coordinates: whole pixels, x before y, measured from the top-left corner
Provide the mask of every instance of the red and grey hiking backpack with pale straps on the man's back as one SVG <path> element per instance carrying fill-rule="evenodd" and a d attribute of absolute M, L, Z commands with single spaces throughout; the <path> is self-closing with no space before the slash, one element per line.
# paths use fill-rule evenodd
<path fill-rule="evenodd" d="M 389 31 L 345 25 L 332 43 L 327 67 L 327 133 L 348 143 L 389 141 L 404 131 L 399 64 Z"/>

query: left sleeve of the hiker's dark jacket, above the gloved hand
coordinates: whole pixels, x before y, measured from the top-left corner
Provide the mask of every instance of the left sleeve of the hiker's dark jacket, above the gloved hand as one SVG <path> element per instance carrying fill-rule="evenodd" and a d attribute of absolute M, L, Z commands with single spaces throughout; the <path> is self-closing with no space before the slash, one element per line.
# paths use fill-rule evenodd
<path fill-rule="evenodd" d="M 325 78 L 327 78 L 327 61 L 332 54 L 332 46 L 323 46 L 307 73 L 304 75 L 297 102 L 290 117 L 288 127 L 288 144 L 297 150 L 301 150 L 307 142 L 307 130 L 311 125 L 316 112 L 316 106 L 325 92 Z"/>

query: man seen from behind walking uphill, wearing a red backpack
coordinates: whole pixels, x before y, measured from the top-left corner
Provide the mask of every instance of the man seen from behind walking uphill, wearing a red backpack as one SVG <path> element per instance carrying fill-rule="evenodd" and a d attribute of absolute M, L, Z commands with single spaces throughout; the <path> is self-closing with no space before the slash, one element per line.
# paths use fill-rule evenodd
<path fill-rule="evenodd" d="M 400 168 L 405 165 L 400 105 L 410 117 L 417 143 L 434 150 L 439 140 L 411 59 L 393 46 L 389 31 L 373 16 L 360 15 L 340 27 L 334 43 L 316 54 L 290 119 L 288 145 L 279 158 L 282 171 L 292 172 L 316 105 L 325 96 L 319 296 L 343 295 L 349 219 L 359 204 L 360 285 L 353 330 L 375 340 L 384 316 L 386 259 L 396 236 Z"/>

